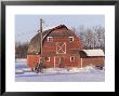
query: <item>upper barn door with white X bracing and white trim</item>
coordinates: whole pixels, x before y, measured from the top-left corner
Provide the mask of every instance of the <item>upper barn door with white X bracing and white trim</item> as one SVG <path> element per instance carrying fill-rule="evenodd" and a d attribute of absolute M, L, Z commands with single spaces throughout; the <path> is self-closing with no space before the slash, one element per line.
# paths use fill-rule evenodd
<path fill-rule="evenodd" d="M 66 43 L 56 42 L 56 54 L 66 54 Z"/>

